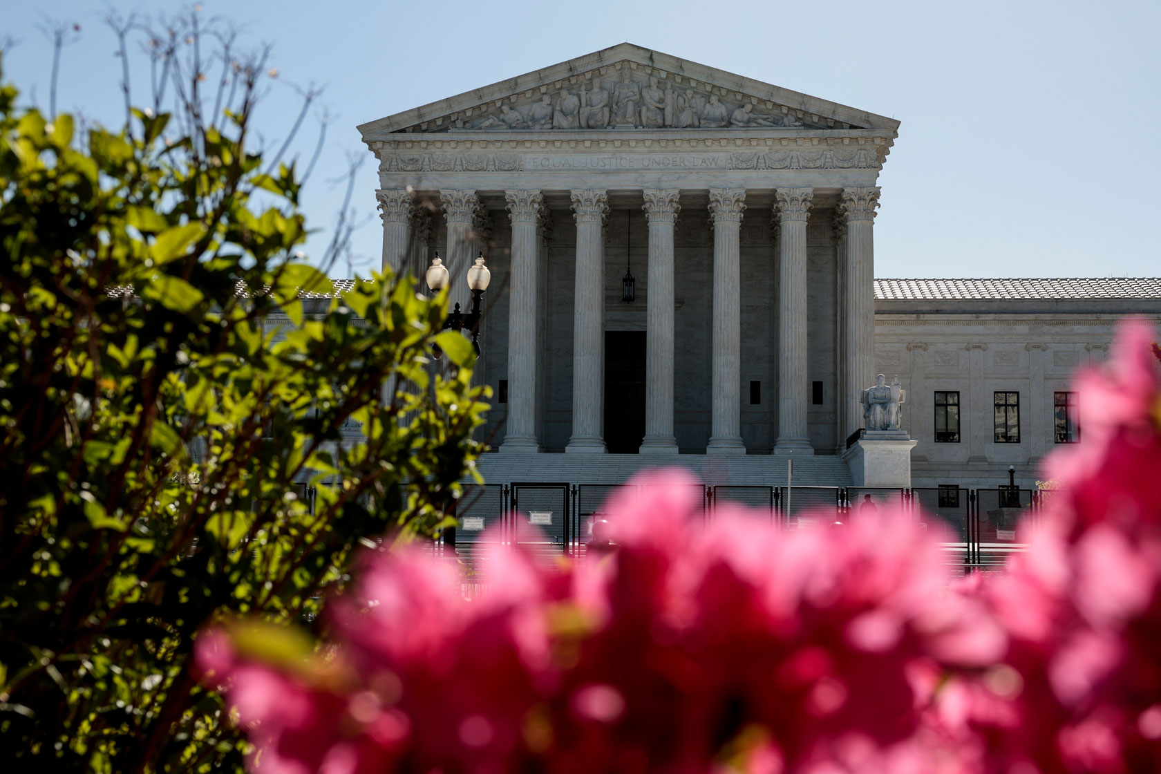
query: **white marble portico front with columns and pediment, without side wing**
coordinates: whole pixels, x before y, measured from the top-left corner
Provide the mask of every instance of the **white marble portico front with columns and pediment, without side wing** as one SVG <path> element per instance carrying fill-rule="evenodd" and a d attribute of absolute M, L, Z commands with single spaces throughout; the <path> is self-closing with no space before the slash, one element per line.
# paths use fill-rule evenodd
<path fill-rule="evenodd" d="M 605 453 L 606 335 L 636 331 L 642 453 L 812 456 L 858 427 L 841 396 L 872 376 L 841 345 L 873 337 L 897 125 L 621 44 L 360 131 L 384 265 L 439 252 L 462 285 L 485 253 L 493 447 Z"/>

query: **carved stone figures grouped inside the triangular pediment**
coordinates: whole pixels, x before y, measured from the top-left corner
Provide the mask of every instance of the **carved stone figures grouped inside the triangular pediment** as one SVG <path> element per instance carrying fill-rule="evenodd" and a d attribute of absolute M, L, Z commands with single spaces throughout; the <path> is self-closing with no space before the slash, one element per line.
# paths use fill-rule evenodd
<path fill-rule="evenodd" d="M 593 79 L 592 88 L 579 93 L 562 88 L 555 96 L 524 108 L 502 106 L 500 111 L 470 124 L 453 122 L 455 129 L 700 129 L 720 126 L 801 126 L 794 114 L 757 114 L 753 104 L 727 106 L 716 94 L 692 88 L 662 88 L 657 78 L 648 84 L 633 80 L 629 71 L 612 88 Z"/>

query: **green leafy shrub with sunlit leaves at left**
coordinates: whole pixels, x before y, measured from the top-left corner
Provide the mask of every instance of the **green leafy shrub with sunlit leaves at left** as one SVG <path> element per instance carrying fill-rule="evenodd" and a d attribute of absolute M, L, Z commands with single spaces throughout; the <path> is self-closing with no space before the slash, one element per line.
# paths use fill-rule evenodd
<path fill-rule="evenodd" d="M 360 541 L 446 522 L 481 450 L 445 298 L 408 277 L 336 294 L 294 258 L 295 171 L 247 145 L 260 72 L 221 126 L 135 110 L 80 133 L 0 89 L 8 771 L 240 765 L 193 635 L 310 625 Z M 435 340 L 464 368 L 433 372 Z"/>

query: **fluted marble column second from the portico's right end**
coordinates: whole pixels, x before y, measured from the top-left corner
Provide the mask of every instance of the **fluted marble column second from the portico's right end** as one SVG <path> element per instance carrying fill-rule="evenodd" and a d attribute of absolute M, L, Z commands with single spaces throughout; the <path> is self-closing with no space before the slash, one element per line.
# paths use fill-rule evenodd
<path fill-rule="evenodd" d="M 807 434 L 806 219 L 812 188 L 774 193 L 781 226 L 778 274 L 778 440 L 774 454 L 814 454 Z"/>

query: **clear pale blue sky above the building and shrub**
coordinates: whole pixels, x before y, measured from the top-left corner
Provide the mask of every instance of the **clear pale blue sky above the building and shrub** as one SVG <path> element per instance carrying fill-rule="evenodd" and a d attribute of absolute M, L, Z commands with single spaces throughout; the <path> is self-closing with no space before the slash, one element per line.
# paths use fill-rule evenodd
<path fill-rule="evenodd" d="M 106 8 L 192 3 L 5 0 L 17 45 L 5 79 L 48 103 L 51 49 L 37 24 L 81 24 L 58 103 L 122 115 Z M 365 154 L 355 270 L 377 265 L 375 165 L 355 125 L 623 41 L 902 122 L 880 176 L 875 274 L 1159 276 L 1161 3 L 432 2 L 204 0 L 202 13 L 274 44 L 261 114 L 271 144 L 294 121 L 291 84 L 326 85 L 327 144 L 304 196 L 333 223 L 349 154 Z M 138 60 L 135 74 L 146 71 Z M 144 81 L 139 81 L 144 86 Z M 140 92 L 144 96 L 145 92 Z M 309 154 L 313 129 L 303 137 Z M 308 252 L 325 246 L 325 231 Z M 341 275 L 346 267 L 332 274 Z"/>

